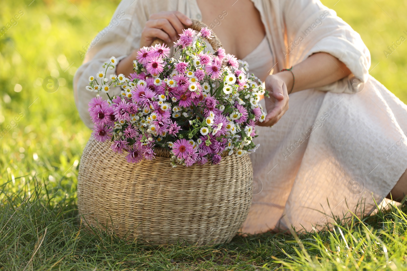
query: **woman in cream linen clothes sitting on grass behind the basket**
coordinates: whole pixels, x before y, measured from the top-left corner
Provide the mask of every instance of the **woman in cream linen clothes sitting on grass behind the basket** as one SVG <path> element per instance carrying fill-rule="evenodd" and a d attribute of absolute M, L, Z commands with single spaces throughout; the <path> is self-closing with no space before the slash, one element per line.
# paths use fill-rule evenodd
<path fill-rule="evenodd" d="M 251 156 L 256 186 L 243 232 L 320 230 L 349 210 L 371 212 L 373 197 L 407 194 L 407 106 L 369 76 L 360 36 L 321 2 L 123 0 L 118 15 L 74 78 L 90 128 L 88 75 L 112 55 L 116 73 L 128 75 L 139 48 L 156 37 L 171 45 L 189 18 L 211 26 L 272 93 L 265 127 L 256 130 L 261 147 Z"/>

